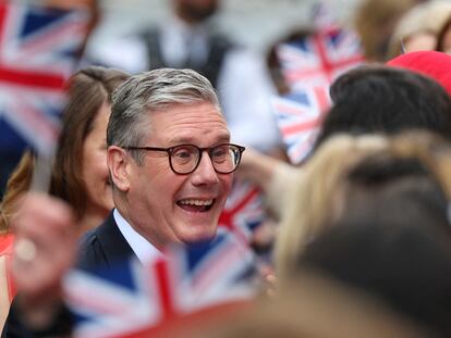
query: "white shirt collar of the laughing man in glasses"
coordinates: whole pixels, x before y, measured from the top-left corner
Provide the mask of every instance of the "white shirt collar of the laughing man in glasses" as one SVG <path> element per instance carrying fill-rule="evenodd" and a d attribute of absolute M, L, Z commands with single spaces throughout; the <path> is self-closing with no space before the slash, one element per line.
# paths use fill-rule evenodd
<path fill-rule="evenodd" d="M 138 258 L 139 262 L 145 263 L 162 255 L 162 253 L 155 248 L 147 239 L 141 236 L 130 224 L 122 217 L 118 209 L 114 209 L 113 216 L 115 224 L 119 227 L 122 236 L 126 242 L 132 247 L 133 252 Z"/>

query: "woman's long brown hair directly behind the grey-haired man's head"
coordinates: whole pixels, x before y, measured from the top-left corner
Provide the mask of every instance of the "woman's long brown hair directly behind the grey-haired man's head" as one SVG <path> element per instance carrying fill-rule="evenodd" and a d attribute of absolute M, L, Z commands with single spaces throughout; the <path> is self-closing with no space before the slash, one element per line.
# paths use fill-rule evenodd
<path fill-rule="evenodd" d="M 85 213 L 87 200 L 82 179 L 85 139 L 101 105 L 111 103 L 112 91 L 127 78 L 118 70 L 90 66 L 75 73 L 69 83 L 49 192 L 69 202 L 78 217 Z"/>

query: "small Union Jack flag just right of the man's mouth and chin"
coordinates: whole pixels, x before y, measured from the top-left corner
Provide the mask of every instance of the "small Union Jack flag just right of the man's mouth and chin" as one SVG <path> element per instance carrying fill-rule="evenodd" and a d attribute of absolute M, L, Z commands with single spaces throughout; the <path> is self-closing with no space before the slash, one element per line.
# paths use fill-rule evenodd
<path fill-rule="evenodd" d="M 266 217 L 260 190 L 251 183 L 235 180 L 224 209 L 219 216 L 219 231 L 230 231 L 243 242 L 249 243 L 253 230 Z"/>

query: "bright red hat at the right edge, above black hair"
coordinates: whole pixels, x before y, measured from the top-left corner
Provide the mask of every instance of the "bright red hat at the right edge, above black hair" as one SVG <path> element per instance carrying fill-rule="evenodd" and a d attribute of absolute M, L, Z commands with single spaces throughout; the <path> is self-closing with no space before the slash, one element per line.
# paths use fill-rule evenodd
<path fill-rule="evenodd" d="M 407 68 L 438 82 L 451 96 L 451 55 L 434 50 L 417 51 L 394 58 L 388 65 Z"/>

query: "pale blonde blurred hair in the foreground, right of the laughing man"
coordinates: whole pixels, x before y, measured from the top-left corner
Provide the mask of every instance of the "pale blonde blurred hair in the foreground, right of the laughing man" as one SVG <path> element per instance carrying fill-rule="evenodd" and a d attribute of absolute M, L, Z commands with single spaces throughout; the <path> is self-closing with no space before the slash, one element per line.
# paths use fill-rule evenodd
<path fill-rule="evenodd" d="M 336 193 L 346 173 L 359 160 L 386 150 L 382 136 L 337 135 L 327 140 L 298 171 L 285 191 L 287 205 L 275 247 L 275 265 L 279 278 L 289 274 L 293 260 L 305 242 L 330 224 L 343 208 Z"/>

